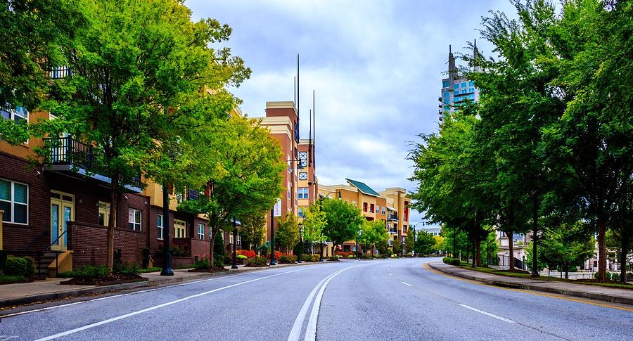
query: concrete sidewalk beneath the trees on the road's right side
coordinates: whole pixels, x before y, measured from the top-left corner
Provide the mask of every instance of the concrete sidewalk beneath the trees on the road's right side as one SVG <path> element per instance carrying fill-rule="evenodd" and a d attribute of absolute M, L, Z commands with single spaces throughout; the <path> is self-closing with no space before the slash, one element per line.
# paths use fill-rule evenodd
<path fill-rule="evenodd" d="M 601 300 L 606 302 L 633 305 L 633 290 L 608 288 L 599 285 L 568 283 L 562 281 L 543 281 L 539 280 L 538 278 L 519 278 L 487 274 L 481 271 L 464 269 L 459 266 L 453 266 L 438 262 L 428 263 L 428 265 L 431 268 L 437 271 L 442 271 L 446 274 L 451 274 L 453 276 L 468 278 L 473 281 L 498 285 L 506 288 L 550 292 L 559 295 L 583 297 L 592 300 Z"/>

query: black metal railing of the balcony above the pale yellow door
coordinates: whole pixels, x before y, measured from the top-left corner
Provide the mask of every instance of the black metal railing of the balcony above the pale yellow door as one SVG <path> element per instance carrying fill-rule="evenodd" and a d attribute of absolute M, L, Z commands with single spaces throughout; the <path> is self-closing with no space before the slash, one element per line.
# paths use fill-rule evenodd
<path fill-rule="evenodd" d="M 50 165 L 68 165 L 69 169 L 84 169 L 94 174 L 99 172 L 95 165 L 93 146 L 77 141 L 72 136 L 44 138 L 44 146 L 50 150 L 46 163 Z M 68 170 L 68 169 L 67 169 Z M 134 176 L 130 186 L 141 188 L 141 176 Z"/>

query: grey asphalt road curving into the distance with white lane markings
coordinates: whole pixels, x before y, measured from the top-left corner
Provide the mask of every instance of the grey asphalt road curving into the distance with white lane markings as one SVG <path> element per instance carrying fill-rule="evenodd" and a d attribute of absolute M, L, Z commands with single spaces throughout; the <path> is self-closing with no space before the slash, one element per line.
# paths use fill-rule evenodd
<path fill-rule="evenodd" d="M 4 317 L 0 340 L 633 339 L 633 307 L 461 281 L 423 266 L 433 260 L 327 262 L 101 297 Z"/>

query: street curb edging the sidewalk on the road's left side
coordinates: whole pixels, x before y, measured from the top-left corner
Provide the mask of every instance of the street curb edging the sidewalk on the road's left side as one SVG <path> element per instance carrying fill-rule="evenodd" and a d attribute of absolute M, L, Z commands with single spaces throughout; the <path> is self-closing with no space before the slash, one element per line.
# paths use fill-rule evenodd
<path fill-rule="evenodd" d="M 86 295 L 92 295 L 92 294 L 105 294 L 108 292 L 120 291 L 120 290 L 151 288 L 158 285 L 197 281 L 200 279 L 212 278 L 212 277 L 218 277 L 218 276 L 232 276 L 232 275 L 244 274 L 244 273 L 254 272 L 254 271 L 264 271 L 264 270 L 269 270 L 269 269 L 285 268 L 285 267 L 291 267 L 291 266 L 304 266 L 304 265 L 312 265 L 312 264 L 327 264 L 327 262 L 303 262 L 300 264 L 277 264 L 274 266 L 248 268 L 248 269 L 240 270 L 240 271 L 229 270 L 229 271 L 214 272 L 214 273 L 200 273 L 200 274 L 189 276 L 189 277 L 177 277 L 177 278 L 166 277 L 164 279 L 160 279 L 157 281 L 142 281 L 142 282 L 134 282 L 134 283 L 104 285 L 103 287 L 85 288 L 85 289 L 69 290 L 69 291 L 63 291 L 63 292 L 50 292 L 50 293 L 41 294 L 41 295 L 30 295 L 30 296 L 4 300 L 0 302 L 0 308 L 21 306 L 25 304 L 40 303 L 40 302 L 44 303 L 46 301 L 63 300 L 66 298 L 86 296 Z"/>

